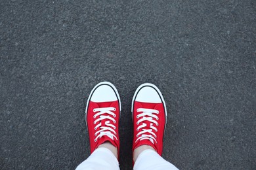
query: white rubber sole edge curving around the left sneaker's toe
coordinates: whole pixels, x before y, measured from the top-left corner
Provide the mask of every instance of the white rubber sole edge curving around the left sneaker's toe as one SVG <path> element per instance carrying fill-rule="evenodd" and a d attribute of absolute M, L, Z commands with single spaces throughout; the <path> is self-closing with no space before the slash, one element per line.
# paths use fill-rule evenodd
<path fill-rule="evenodd" d="M 86 108 L 85 108 L 85 124 L 86 124 L 86 127 L 87 127 L 87 109 L 88 109 L 89 101 L 91 100 L 91 96 L 93 95 L 93 92 L 95 92 L 96 88 L 98 88 L 99 86 L 102 86 L 102 85 L 110 86 L 114 90 L 114 92 L 116 93 L 117 99 L 119 101 L 119 110 L 120 110 L 119 118 L 121 117 L 121 100 L 120 100 L 120 96 L 119 96 L 119 93 L 117 92 L 116 87 L 111 82 L 100 82 L 100 83 L 96 84 L 96 86 L 93 88 L 93 90 L 91 90 L 91 93 L 90 93 L 90 95 L 87 99 Z M 87 129 L 88 129 L 88 127 L 87 127 Z"/>

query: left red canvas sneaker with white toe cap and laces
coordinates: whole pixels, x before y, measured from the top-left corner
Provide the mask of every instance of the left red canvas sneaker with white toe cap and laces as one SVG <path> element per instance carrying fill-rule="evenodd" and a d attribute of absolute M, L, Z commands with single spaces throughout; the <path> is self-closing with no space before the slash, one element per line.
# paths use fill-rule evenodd
<path fill-rule="evenodd" d="M 116 87 L 110 82 L 100 82 L 93 88 L 85 109 L 91 153 L 109 141 L 117 147 L 119 155 L 119 114 L 121 102 Z"/>

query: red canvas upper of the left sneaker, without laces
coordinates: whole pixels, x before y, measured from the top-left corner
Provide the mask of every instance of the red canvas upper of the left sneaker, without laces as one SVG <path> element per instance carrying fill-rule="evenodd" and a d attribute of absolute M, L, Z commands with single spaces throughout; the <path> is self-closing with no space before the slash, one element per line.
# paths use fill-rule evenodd
<path fill-rule="evenodd" d="M 113 112 L 115 116 L 112 116 L 111 114 L 108 114 L 107 112 L 95 116 L 97 113 L 99 113 L 100 111 L 95 111 L 94 109 L 98 109 L 98 108 L 115 108 L 116 110 L 111 110 L 110 112 Z M 89 140 L 90 140 L 90 146 L 91 146 L 91 153 L 93 153 L 93 151 L 95 151 L 95 149 L 102 143 L 109 141 L 110 143 L 112 143 L 114 146 L 117 147 L 118 153 L 119 153 L 119 102 L 118 101 L 111 101 L 111 102 L 100 102 L 100 103 L 96 103 L 93 101 L 89 101 L 89 105 L 87 108 L 87 127 L 88 127 L 88 132 L 89 132 Z M 95 117 L 94 117 L 95 116 Z M 102 116 L 109 116 L 110 118 L 114 119 L 116 122 L 114 122 L 113 120 L 109 119 L 109 118 L 105 118 L 104 120 L 100 120 L 98 122 L 95 122 L 97 119 L 99 119 Z M 95 124 L 96 123 L 96 124 Z M 99 126 L 99 124 L 101 123 L 101 126 Z M 107 124 L 112 124 L 114 127 L 108 126 Z M 98 127 L 96 127 L 98 126 Z M 96 131 L 99 131 L 101 129 L 102 126 L 105 127 L 109 127 L 111 128 L 113 131 L 115 131 L 116 133 L 114 133 L 113 131 L 107 129 L 105 131 L 102 131 L 102 133 L 108 131 L 108 133 L 112 133 L 112 135 L 115 135 L 117 137 L 109 137 L 108 135 L 102 135 L 101 137 L 98 137 L 98 139 L 96 139 L 96 136 L 98 134 L 100 134 L 101 132 L 96 133 Z M 96 129 L 95 129 L 96 127 Z M 95 141 L 96 139 L 96 141 Z"/>

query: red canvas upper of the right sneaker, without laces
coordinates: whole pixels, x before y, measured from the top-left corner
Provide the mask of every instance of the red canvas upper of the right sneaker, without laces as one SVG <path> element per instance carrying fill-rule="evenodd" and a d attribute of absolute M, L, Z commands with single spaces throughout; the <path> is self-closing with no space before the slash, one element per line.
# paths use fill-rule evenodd
<path fill-rule="evenodd" d="M 158 110 L 158 114 L 157 113 L 151 113 L 154 114 L 156 116 L 158 116 L 158 118 L 152 118 L 152 120 L 155 120 L 157 124 L 152 123 L 148 120 L 144 120 L 142 122 L 140 122 L 139 124 L 137 124 L 137 122 L 142 119 L 143 117 L 148 118 L 150 116 L 142 116 L 140 118 L 137 118 L 137 116 L 139 114 L 142 113 L 142 111 L 138 111 L 137 109 L 141 110 L 141 109 L 153 109 L 153 110 Z M 133 129 L 134 129 L 134 135 L 133 135 L 133 150 L 135 150 L 135 148 L 146 144 L 149 146 L 152 146 L 156 152 L 158 152 L 158 154 L 162 154 L 162 150 L 163 150 L 163 132 L 165 129 L 165 109 L 163 106 L 163 103 L 142 103 L 139 101 L 134 101 L 133 103 Z M 142 124 L 146 124 L 146 127 L 142 127 L 139 129 L 139 131 L 137 131 L 137 128 L 139 126 L 141 126 Z M 155 129 L 152 129 L 151 126 L 156 127 L 157 131 Z M 144 135 L 152 135 L 153 137 L 155 137 L 156 141 L 154 139 L 144 139 L 144 140 L 137 140 L 139 137 L 142 136 L 142 134 L 138 135 L 141 131 L 143 130 L 149 130 L 152 129 L 152 133 L 154 133 L 156 135 L 156 137 L 150 133 L 150 132 L 146 132 L 143 133 Z"/>

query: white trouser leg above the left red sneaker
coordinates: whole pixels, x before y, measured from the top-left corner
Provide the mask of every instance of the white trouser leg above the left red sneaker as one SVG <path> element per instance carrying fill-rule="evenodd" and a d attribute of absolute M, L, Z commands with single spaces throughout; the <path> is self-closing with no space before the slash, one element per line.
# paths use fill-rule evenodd
<path fill-rule="evenodd" d="M 97 148 L 87 160 L 78 165 L 76 170 L 119 170 L 116 156 L 107 148 Z"/>

